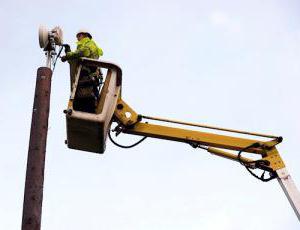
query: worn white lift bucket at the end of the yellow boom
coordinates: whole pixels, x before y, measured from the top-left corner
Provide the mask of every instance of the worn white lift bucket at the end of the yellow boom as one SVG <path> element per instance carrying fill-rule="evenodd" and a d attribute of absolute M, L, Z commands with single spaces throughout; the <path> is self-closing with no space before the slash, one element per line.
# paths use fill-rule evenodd
<path fill-rule="evenodd" d="M 95 66 L 107 69 L 105 82 L 100 92 L 95 113 L 76 111 L 73 108 L 76 90 L 82 66 Z M 74 79 L 74 80 L 72 80 Z M 71 70 L 71 97 L 66 113 L 67 145 L 71 149 L 103 153 L 111 120 L 121 96 L 122 70 L 119 66 L 82 58 L 76 63 L 75 71 Z"/>

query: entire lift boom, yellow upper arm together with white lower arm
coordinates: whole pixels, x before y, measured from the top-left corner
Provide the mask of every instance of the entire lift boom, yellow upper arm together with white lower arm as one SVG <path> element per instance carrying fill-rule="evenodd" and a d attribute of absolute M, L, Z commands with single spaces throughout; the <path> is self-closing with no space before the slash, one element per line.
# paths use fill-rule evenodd
<path fill-rule="evenodd" d="M 127 105 L 121 98 L 119 98 L 114 113 L 114 119 L 118 123 L 118 128 L 116 129 L 118 132 L 188 143 L 193 147 L 205 149 L 214 155 L 224 157 L 233 161 L 238 161 L 242 165 L 244 165 L 250 172 L 251 170 L 249 169 L 255 168 L 268 171 L 271 175 L 268 180 L 277 178 L 295 214 L 300 221 L 300 193 L 296 188 L 296 185 L 294 184 L 290 174 L 287 172 L 285 164 L 276 149 L 276 145 L 282 141 L 281 137 L 202 126 L 204 128 L 212 128 L 216 130 L 272 138 L 270 141 L 259 141 L 169 126 L 148 124 L 147 122 L 142 122 L 143 117 L 145 118 L 145 116 L 137 114 L 132 108 L 130 108 L 129 105 Z M 170 120 L 159 118 L 155 120 L 170 122 Z M 178 121 L 175 121 L 173 123 L 184 124 L 183 122 Z M 189 123 L 187 125 L 191 124 Z M 239 152 L 238 154 L 234 154 L 224 151 L 223 149 L 235 150 Z M 253 160 L 250 158 L 242 157 L 242 152 L 260 155 L 261 159 Z M 251 174 L 253 173 L 251 172 Z M 262 174 L 262 178 L 260 179 L 263 181 L 268 181 L 264 180 L 263 177 L 264 176 Z"/>

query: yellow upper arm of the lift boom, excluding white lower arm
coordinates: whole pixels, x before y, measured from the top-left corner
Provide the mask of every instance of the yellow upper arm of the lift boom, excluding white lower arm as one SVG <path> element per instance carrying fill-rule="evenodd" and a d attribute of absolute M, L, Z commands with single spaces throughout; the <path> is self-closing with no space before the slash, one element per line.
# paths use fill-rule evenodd
<path fill-rule="evenodd" d="M 275 148 L 275 146 L 282 141 L 281 137 L 264 142 L 208 132 L 148 124 L 142 122 L 142 116 L 138 115 L 122 99 L 118 100 L 114 115 L 116 121 L 122 127 L 122 132 L 124 133 L 184 142 L 192 145 L 193 147 L 204 148 L 208 152 L 221 157 L 236 161 L 245 161 L 244 163 L 253 162 L 253 160 L 221 149 L 243 151 L 254 153 L 256 155 L 259 154 L 262 156 L 263 160 L 269 162 L 269 165 L 267 165 L 268 171 L 276 171 L 277 169 L 284 168 L 283 160 Z"/>

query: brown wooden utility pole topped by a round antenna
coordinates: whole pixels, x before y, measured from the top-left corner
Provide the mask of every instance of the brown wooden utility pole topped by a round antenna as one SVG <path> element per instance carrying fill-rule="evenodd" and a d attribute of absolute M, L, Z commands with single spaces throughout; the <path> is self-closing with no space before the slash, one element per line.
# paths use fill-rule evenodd
<path fill-rule="evenodd" d="M 40 230 L 52 70 L 37 70 L 27 158 L 22 230 Z"/>

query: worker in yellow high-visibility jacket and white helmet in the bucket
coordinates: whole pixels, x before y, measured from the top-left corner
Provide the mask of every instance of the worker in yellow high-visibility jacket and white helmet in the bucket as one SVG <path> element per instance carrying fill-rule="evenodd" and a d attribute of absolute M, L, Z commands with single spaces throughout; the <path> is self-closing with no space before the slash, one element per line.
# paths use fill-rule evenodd
<path fill-rule="evenodd" d="M 103 51 L 92 39 L 88 30 L 81 29 L 76 34 L 77 49 L 71 52 L 70 47 L 65 46 L 66 55 L 61 57 L 62 62 L 72 61 L 81 57 L 99 59 Z M 74 109 L 83 112 L 95 112 L 96 103 L 99 96 L 98 86 L 102 83 L 102 73 L 100 68 L 92 66 L 83 66 L 76 96 L 74 100 Z"/>

